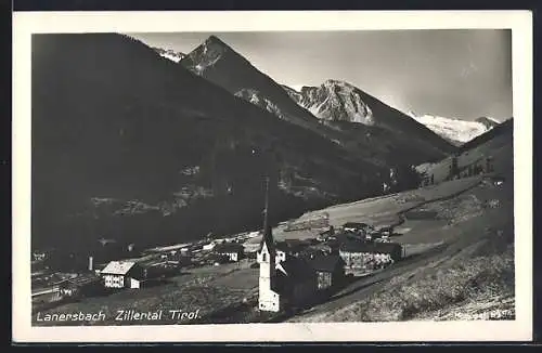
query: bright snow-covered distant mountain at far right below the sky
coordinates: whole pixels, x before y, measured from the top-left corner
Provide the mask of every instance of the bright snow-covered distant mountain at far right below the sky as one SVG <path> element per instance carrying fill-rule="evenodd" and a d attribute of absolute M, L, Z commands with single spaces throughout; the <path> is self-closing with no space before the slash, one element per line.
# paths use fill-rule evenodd
<path fill-rule="evenodd" d="M 466 143 L 499 125 L 494 120 L 490 120 L 488 118 L 479 118 L 475 121 L 467 121 L 428 114 L 416 116 L 412 112 L 410 112 L 410 115 L 420 123 L 423 123 L 443 139 L 456 145 Z"/>

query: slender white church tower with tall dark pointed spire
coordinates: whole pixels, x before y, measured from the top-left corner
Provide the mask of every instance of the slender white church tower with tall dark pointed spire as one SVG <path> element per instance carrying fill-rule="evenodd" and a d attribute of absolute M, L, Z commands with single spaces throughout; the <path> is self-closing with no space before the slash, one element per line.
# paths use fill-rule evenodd
<path fill-rule="evenodd" d="M 260 311 L 278 312 L 280 310 L 280 296 L 275 292 L 275 256 L 271 225 L 269 224 L 269 178 L 266 179 L 266 210 L 263 215 L 263 234 L 257 259 L 260 264 L 259 298 Z"/>

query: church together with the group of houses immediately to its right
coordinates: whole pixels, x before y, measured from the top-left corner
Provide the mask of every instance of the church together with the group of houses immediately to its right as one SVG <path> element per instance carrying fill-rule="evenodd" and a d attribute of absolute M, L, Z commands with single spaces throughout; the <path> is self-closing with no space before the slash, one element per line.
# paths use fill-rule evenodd
<path fill-rule="evenodd" d="M 275 241 L 268 198 L 257 252 L 260 311 L 309 305 L 340 287 L 347 274 L 366 274 L 402 257 L 402 247 L 389 241 L 392 228 L 376 231 L 364 223 L 346 223 L 340 232 L 330 227 L 314 240 Z"/>

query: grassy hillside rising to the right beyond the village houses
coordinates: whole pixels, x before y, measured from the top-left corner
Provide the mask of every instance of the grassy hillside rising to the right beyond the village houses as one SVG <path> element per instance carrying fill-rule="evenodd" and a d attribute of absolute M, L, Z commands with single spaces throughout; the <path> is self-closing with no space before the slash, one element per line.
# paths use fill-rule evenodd
<path fill-rule="evenodd" d="M 287 322 L 514 319 L 514 148 L 508 121 L 459 155 L 460 166 L 491 156 L 494 169 L 486 175 L 322 210 L 337 224 L 395 224 L 393 241 L 404 246 L 406 259 Z M 444 160 L 431 167 L 448 165 Z M 493 183 L 495 176 L 502 183 Z M 409 217 L 416 211 L 428 215 Z"/>

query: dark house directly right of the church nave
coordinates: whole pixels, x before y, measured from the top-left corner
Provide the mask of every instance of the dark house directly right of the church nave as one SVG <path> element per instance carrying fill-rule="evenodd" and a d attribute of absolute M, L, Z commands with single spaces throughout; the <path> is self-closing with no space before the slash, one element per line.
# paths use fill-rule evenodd
<path fill-rule="evenodd" d="M 345 263 L 337 254 L 317 254 L 307 259 L 317 274 L 317 289 L 327 290 L 336 287 L 345 276 Z"/>

